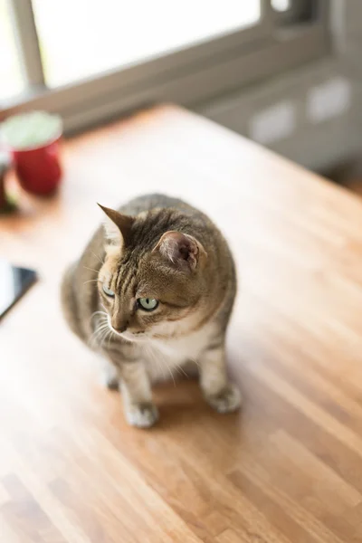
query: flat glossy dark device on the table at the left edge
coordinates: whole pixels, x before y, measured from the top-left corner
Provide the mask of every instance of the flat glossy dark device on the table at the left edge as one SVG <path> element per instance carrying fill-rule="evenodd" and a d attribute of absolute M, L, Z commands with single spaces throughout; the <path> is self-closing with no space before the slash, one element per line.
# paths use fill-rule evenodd
<path fill-rule="evenodd" d="M 0 261 L 0 319 L 36 281 L 36 272 Z"/>

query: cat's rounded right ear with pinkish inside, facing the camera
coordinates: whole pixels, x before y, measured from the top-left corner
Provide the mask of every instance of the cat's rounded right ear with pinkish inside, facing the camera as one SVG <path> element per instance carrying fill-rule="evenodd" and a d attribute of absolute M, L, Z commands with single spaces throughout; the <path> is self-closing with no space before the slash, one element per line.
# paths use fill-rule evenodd
<path fill-rule="evenodd" d="M 192 235 L 170 230 L 164 233 L 153 250 L 176 265 L 195 271 L 200 258 L 207 257 L 204 247 Z"/>

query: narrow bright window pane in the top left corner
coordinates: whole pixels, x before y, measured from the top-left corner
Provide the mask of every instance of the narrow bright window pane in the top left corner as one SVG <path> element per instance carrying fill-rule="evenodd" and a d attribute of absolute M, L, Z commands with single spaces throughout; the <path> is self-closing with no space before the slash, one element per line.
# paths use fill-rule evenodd
<path fill-rule="evenodd" d="M 0 0 L 0 103 L 24 90 L 7 0 Z"/>

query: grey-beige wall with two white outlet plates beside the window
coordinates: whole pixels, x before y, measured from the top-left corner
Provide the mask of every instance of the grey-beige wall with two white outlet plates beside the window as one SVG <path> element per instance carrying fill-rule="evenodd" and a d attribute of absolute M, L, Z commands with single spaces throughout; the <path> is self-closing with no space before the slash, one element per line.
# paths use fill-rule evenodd
<path fill-rule="evenodd" d="M 362 151 L 362 0 L 332 0 L 328 58 L 198 111 L 316 170 Z"/>

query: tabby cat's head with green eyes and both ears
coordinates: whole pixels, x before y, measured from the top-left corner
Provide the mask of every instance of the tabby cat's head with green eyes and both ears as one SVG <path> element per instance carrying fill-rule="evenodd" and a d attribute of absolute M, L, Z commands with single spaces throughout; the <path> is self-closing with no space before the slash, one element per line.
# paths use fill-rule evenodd
<path fill-rule="evenodd" d="M 167 230 L 167 210 L 131 217 L 101 208 L 108 219 L 98 284 L 111 329 L 136 341 L 191 331 L 205 309 L 203 245 L 192 235 Z"/>

